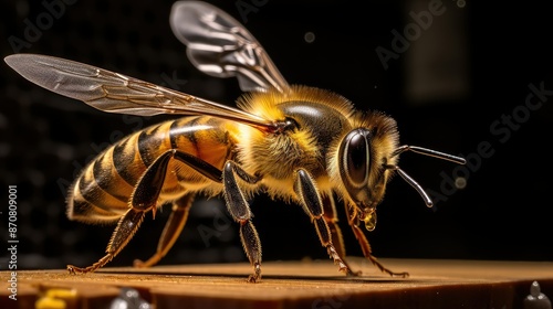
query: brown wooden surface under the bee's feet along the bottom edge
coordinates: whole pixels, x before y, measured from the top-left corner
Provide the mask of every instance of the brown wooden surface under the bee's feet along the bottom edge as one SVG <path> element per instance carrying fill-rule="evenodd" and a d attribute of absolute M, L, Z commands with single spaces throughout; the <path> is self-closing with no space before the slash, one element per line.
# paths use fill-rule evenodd
<path fill-rule="evenodd" d="M 106 267 L 86 275 L 20 270 L 17 301 L 8 298 L 10 273 L 1 271 L 0 308 L 34 308 L 49 290 L 65 292 L 66 308 L 109 308 L 122 287 L 136 288 L 157 309 L 523 308 L 534 280 L 553 299 L 553 263 L 383 258 L 410 273 L 390 278 L 361 258 L 349 260 L 362 276 L 346 277 L 326 260 L 267 262 L 258 284 L 246 283 L 249 264 Z"/>

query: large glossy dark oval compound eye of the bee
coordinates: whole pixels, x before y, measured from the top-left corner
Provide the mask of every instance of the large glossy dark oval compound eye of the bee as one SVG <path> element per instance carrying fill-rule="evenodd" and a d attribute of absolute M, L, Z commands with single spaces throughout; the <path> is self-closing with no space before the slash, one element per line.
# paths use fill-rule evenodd
<path fill-rule="evenodd" d="M 340 147 L 342 178 L 353 188 L 366 185 L 371 159 L 369 131 L 355 129 L 347 134 Z"/>

